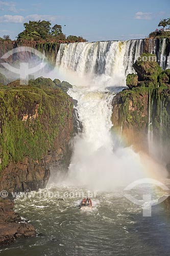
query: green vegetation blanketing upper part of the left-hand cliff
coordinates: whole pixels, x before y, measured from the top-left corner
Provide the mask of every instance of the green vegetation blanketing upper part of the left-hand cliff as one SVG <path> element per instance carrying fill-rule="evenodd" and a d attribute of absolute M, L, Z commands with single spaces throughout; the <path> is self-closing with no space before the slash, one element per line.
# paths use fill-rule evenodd
<path fill-rule="evenodd" d="M 47 86 L 46 86 L 47 85 Z M 50 78 L 0 87 L 0 169 L 26 156 L 40 160 L 53 150 L 59 130 L 72 117 L 70 97 Z"/>

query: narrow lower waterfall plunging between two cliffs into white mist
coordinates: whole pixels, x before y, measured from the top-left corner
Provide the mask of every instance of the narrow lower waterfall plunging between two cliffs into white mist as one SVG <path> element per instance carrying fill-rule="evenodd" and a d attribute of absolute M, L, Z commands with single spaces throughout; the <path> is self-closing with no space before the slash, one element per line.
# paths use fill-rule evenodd
<path fill-rule="evenodd" d="M 78 100 L 83 131 L 74 138 L 74 152 L 64 184 L 111 190 L 143 178 L 139 156 L 131 148 L 117 146 L 116 136 L 111 132 L 114 94 L 78 86 L 68 93 Z"/>

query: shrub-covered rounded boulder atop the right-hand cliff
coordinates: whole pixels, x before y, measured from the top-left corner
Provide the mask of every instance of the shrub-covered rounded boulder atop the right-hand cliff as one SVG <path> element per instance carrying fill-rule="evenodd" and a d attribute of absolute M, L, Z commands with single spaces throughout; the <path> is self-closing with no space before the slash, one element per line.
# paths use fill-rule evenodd
<path fill-rule="evenodd" d="M 152 81 L 157 83 L 158 76 L 162 72 L 161 67 L 158 65 L 156 55 L 151 53 L 143 53 L 136 60 L 133 65 L 139 81 Z"/>

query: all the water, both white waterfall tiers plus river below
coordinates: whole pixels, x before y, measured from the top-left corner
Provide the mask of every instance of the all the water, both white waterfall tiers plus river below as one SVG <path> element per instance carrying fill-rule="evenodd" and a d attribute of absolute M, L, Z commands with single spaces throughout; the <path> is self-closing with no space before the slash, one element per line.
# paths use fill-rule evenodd
<path fill-rule="evenodd" d="M 149 48 L 155 51 L 154 39 Z M 53 170 L 46 189 L 15 200 L 16 210 L 31 220 L 39 236 L 17 240 L 0 251 L 4 256 L 169 255 L 169 217 L 159 209 L 143 218 L 142 209 L 124 196 L 126 185 L 141 178 L 159 179 L 164 170 L 125 148 L 112 132 L 112 99 L 143 51 L 144 39 L 60 46 L 51 76 L 74 84 L 68 93 L 78 100 L 83 131 L 72 141 L 66 176 L 61 179 Z M 83 212 L 79 205 L 88 190 L 94 207 Z"/>

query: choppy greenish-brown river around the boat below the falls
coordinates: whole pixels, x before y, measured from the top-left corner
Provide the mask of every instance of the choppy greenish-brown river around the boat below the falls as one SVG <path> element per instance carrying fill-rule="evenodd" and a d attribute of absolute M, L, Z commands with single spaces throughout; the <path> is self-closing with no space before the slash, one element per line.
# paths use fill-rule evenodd
<path fill-rule="evenodd" d="M 93 209 L 83 211 L 79 209 L 81 197 L 74 197 L 83 193 L 87 190 L 61 185 L 26 197 L 22 194 L 15 200 L 15 209 L 31 220 L 37 237 L 18 239 L 0 254 L 169 255 L 170 218 L 165 211 L 156 209 L 152 217 L 142 217 L 141 207 L 128 201 L 122 189 L 95 192 Z"/>

